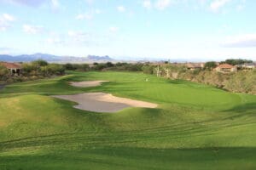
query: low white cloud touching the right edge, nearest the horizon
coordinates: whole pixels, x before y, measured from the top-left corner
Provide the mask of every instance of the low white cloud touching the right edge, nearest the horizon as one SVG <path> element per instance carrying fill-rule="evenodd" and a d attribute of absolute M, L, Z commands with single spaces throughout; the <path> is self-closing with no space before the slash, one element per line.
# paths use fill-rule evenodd
<path fill-rule="evenodd" d="M 256 34 L 227 37 L 222 46 L 227 48 L 256 48 Z"/>

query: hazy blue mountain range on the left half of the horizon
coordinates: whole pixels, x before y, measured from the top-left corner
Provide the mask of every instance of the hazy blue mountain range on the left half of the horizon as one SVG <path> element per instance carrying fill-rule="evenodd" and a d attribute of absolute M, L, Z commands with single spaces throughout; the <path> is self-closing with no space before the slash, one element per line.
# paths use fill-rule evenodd
<path fill-rule="evenodd" d="M 22 54 L 22 55 L 6 55 L 0 54 L 0 61 L 9 61 L 9 62 L 30 62 L 36 59 L 44 59 L 48 62 L 106 62 L 113 61 L 108 55 L 106 56 L 96 56 L 96 55 L 88 55 L 87 57 L 73 57 L 73 56 L 57 56 L 52 54 Z"/>

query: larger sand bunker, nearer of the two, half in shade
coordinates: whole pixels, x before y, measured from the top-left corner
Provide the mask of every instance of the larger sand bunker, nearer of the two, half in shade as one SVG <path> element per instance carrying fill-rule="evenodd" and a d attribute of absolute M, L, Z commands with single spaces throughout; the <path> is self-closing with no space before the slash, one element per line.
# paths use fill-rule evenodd
<path fill-rule="evenodd" d="M 113 96 L 112 94 L 105 93 L 55 95 L 53 97 L 77 102 L 79 105 L 75 105 L 74 108 L 84 111 L 116 112 L 121 111 L 127 107 L 157 107 L 157 105 L 153 103 L 134 99 L 119 98 Z"/>

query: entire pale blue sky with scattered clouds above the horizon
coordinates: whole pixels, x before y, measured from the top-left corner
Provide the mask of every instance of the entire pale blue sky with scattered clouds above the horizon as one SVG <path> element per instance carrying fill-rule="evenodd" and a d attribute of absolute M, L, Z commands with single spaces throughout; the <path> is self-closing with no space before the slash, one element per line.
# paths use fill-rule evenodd
<path fill-rule="evenodd" d="M 0 0 L 0 54 L 256 60 L 254 0 Z"/>

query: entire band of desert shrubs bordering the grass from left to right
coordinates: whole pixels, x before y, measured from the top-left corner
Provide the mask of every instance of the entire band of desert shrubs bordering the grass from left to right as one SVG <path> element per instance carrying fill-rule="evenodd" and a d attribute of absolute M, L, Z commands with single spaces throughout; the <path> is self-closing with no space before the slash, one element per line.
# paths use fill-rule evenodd
<path fill-rule="evenodd" d="M 226 59 L 220 63 L 241 65 L 252 63 L 247 59 Z M 158 63 L 93 63 L 65 65 L 49 64 L 44 60 L 36 60 L 31 63 L 22 64 L 23 70 L 20 77 L 12 77 L 9 71 L 0 65 L 0 76 L 4 82 L 24 82 L 44 77 L 55 77 L 65 74 L 65 71 L 137 71 L 144 74 L 151 74 L 167 79 L 180 79 L 190 82 L 200 82 L 223 88 L 230 92 L 256 94 L 256 70 L 237 71 L 230 74 L 213 71 L 217 66 L 214 61 L 205 63 L 202 69 L 190 71 L 184 64 L 172 64 L 167 61 L 164 64 Z"/>

